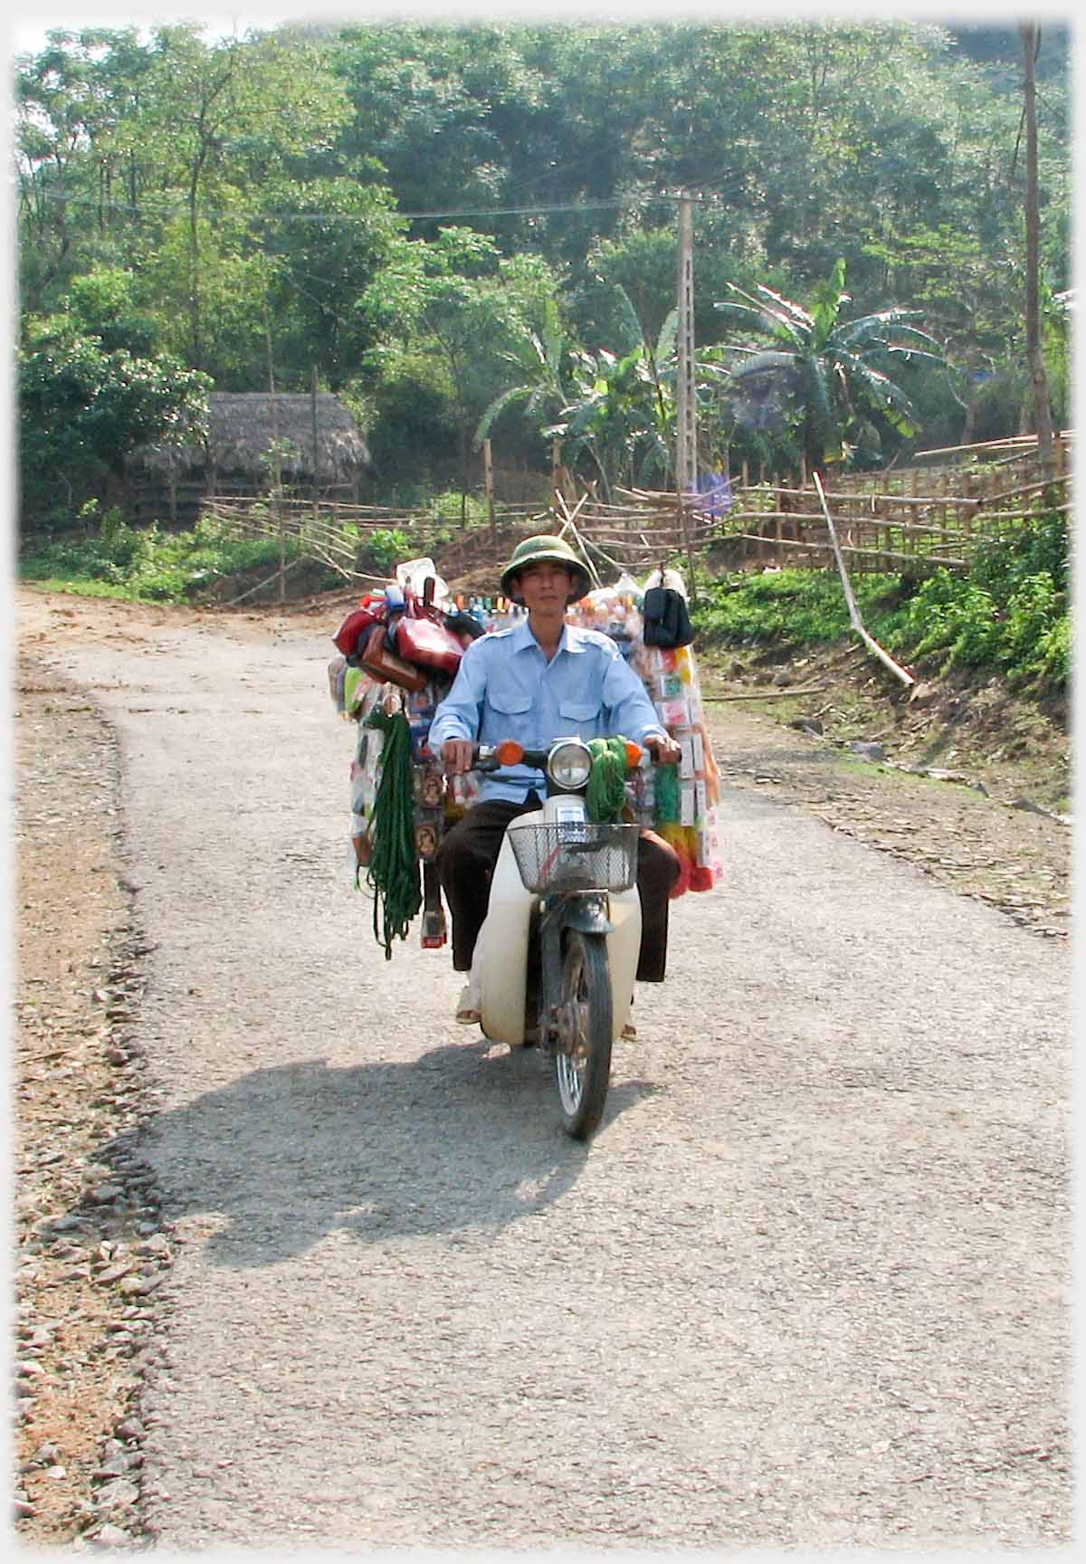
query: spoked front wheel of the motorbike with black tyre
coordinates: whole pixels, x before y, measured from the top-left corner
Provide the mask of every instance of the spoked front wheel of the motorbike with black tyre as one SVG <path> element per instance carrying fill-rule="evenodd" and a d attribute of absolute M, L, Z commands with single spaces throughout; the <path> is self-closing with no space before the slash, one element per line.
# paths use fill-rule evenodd
<path fill-rule="evenodd" d="M 602 934 L 566 932 L 554 1068 L 562 1120 L 587 1140 L 602 1118 L 610 1082 L 610 970 Z"/>

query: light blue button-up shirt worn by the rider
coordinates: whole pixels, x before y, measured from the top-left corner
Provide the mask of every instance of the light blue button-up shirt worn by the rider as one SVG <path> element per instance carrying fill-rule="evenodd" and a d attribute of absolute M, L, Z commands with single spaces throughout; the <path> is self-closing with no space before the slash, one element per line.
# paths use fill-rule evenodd
<path fill-rule="evenodd" d="M 448 738 L 498 744 L 515 738 L 524 749 L 546 749 L 556 738 L 665 738 L 645 685 L 607 635 L 566 624 L 548 663 L 527 619 L 512 630 L 480 635 L 463 654 L 452 688 L 430 724 L 435 755 Z M 509 766 L 484 777 L 482 799 L 523 802 L 545 777 L 530 766 Z"/>

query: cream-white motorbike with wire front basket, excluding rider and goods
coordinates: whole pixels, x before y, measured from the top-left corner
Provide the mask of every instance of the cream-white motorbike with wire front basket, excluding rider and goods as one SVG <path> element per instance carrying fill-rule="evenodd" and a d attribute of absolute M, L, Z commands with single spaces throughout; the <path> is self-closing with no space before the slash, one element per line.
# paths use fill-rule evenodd
<path fill-rule="evenodd" d="M 648 765 L 626 744 L 628 768 Z M 593 757 L 584 740 L 546 749 L 476 746 L 474 769 L 527 765 L 546 776 L 541 809 L 518 815 L 494 863 L 471 987 L 484 1035 L 554 1057 L 562 1121 L 587 1140 L 602 1117 L 610 1053 L 629 1020 L 642 940 L 638 827 L 588 820 Z"/>

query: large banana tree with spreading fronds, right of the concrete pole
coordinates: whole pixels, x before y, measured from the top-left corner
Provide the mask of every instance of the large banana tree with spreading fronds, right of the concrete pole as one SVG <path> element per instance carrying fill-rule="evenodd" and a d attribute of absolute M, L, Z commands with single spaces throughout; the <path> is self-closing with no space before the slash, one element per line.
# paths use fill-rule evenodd
<path fill-rule="evenodd" d="M 947 368 L 939 343 L 912 322 L 919 310 L 890 308 L 843 321 L 845 261 L 814 291 L 811 308 L 759 286 L 756 297 L 729 285 L 740 303 L 717 303 L 746 336 L 768 336 L 773 347 L 732 341 L 745 357 L 731 364 L 737 424 L 790 427 L 812 472 L 847 461 L 864 425 L 892 429 L 906 439 L 920 432 L 919 414 L 890 375 L 895 363 Z"/>

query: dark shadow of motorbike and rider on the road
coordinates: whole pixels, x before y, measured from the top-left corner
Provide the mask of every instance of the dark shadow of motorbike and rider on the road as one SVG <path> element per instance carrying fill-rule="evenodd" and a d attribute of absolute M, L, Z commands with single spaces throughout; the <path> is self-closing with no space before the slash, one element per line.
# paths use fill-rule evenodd
<path fill-rule="evenodd" d="M 612 1084 L 596 1140 L 653 1090 Z M 150 1164 L 171 1220 L 225 1217 L 207 1245 L 225 1267 L 272 1265 L 333 1231 L 360 1243 L 496 1231 L 560 1200 L 593 1154 L 560 1126 L 551 1060 L 484 1040 L 410 1062 L 254 1070 L 113 1150 Z"/>

